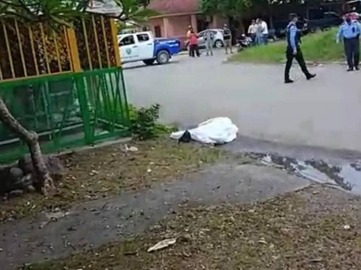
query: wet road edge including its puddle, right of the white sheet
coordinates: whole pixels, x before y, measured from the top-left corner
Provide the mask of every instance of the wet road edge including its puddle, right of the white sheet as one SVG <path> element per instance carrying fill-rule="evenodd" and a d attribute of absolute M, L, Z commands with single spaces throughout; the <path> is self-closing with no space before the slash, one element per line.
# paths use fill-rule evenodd
<path fill-rule="evenodd" d="M 223 148 L 246 153 L 261 163 L 318 183 L 361 195 L 361 153 L 321 147 L 285 145 L 239 136 Z"/>

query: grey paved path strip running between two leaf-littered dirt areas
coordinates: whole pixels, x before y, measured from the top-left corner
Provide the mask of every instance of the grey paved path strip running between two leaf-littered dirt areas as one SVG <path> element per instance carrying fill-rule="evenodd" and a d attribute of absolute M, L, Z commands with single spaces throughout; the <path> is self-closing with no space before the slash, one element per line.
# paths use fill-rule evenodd
<path fill-rule="evenodd" d="M 142 233 L 185 207 L 263 201 L 309 181 L 261 164 L 219 164 L 173 184 L 78 205 L 68 213 L 0 225 L 0 269 L 69 255 Z"/>

